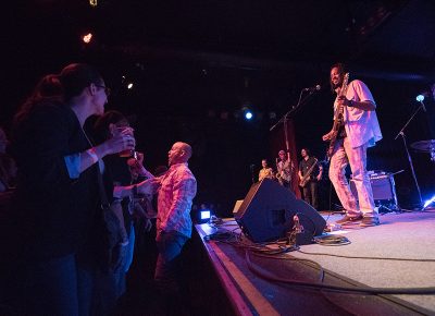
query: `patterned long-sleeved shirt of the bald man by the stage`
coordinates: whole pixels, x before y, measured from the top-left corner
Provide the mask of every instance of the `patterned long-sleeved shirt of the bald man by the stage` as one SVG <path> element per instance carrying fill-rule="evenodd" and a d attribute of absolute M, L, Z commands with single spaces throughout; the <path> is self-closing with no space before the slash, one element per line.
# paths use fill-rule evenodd
<path fill-rule="evenodd" d="M 187 162 L 172 165 L 160 178 L 157 230 L 177 231 L 191 236 L 190 208 L 197 194 L 197 180 Z"/>

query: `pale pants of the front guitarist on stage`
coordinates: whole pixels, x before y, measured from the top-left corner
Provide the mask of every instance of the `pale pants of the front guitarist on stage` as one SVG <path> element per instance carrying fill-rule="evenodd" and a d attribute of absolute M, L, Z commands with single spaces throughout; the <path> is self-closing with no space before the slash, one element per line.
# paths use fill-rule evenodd
<path fill-rule="evenodd" d="M 359 216 L 361 212 L 364 217 L 377 216 L 377 209 L 374 207 L 372 185 L 365 170 L 366 148 L 366 144 L 352 148 L 349 138 L 346 137 L 337 141 L 331 158 L 330 180 L 343 207 L 346 209 L 346 214 L 351 217 Z M 348 163 L 352 171 L 359 203 L 350 191 L 346 179 L 345 169 Z"/>

